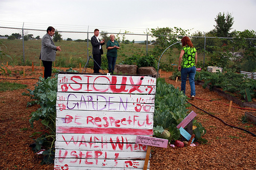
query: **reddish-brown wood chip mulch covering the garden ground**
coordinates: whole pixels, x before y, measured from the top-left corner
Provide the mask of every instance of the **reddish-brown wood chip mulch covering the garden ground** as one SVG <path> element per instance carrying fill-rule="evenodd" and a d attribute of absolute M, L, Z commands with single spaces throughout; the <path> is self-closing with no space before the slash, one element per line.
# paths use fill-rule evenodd
<path fill-rule="evenodd" d="M 20 72 L 25 68 L 25 77 Z M 11 75 L 0 75 L 0 81 L 26 84 L 28 89 L 33 89 L 37 79 L 42 77 L 42 69 L 38 66 L 32 72 L 30 66 L 8 66 Z M 66 70 L 65 68 L 59 68 Z M 87 69 L 87 72 L 93 72 Z M 169 84 L 180 88 L 181 82 L 169 80 L 172 72 L 161 71 L 161 77 Z M 35 79 L 31 79 L 35 78 Z M 13 79 L 13 80 L 10 80 Z M 189 96 L 190 87 L 187 82 L 186 94 Z M 36 155 L 29 144 L 37 138 L 35 132 L 44 131 L 39 122 L 30 127 L 29 118 L 32 111 L 38 106 L 26 107 L 31 101 L 29 96 L 22 95 L 26 89 L 0 92 L 0 169 L 53 169 L 54 165 L 41 165 L 40 155 Z M 228 113 L 229 102 L 217 93 L 203 89 L 196 85 L 196 99 L 189 103 L 205 110 L 222 119 L 225 123 L 246 129 L 256 134 L 255 124 L 243 124 L 242 117 L 250 108 L 231 108 Z M 202 136 L 207 143 L 196 147 L 185 148 L 157 148 L 152 147 L 150 169 L 256 169 L 256 141 L 252 134 L 237 128 L 226 126 L 219 119 L 210 116 L 191 106 L 190 111 L 197 113 L 196 119 L 206 129 Z"/>

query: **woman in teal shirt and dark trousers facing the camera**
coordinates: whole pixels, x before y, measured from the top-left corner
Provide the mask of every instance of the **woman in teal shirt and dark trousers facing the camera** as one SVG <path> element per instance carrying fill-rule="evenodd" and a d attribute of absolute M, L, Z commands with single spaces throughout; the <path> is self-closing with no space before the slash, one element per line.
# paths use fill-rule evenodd
<path fill-rule="evenodd" d="M 106 49 L 108 49 L 108 52 L 106 52 L 106 58 L 108 58 L 109 73 L 111 74 L 114 74 L 114 68 L 117 58 L 117 49 L 119 48 L 120 47 L 118 42 L 115 40 L 115 36 L 111 34 L 110 40 L 106 43 Z"/>

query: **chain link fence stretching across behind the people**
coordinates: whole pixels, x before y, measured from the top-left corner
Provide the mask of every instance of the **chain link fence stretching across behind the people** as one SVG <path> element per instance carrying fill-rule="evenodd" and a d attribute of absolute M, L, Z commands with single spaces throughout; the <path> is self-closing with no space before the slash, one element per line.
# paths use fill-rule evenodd
<path fill-rule="evenodd" d="M 93 32 L 70 32 L 55 30 L 55 35 L 61 36 L 61 41 L 55 42 L 55 45 L 61 45 L 61 52 L 56 54 L 56 65 L 67 67 L 78 67 L 81 63 L 85 65 L 89 56 L 92 55 L 91 37 Z M 41 50 L 41 38 L 46 34 L 46 30 L 20 29 L 0 27 L 0 51 L 6 54 L 0 58 L 1 63 L 9 62 L 10 65 L 40 65 L 39 55 Z M 133 34 L 125 33 L 108 33 L 101 32 L 100 38 L 104 38 L 107 42 L 110 35 L 114 34 L 116 40 L 120 43 L 118 50 L 117 63 L 121 62 L 124 57 L 132 57 L 135 54 L 146 55 L 154 50 L 154 44 L 157 37 L 153 37 L 147 33 Z M 162 36 L 162 35 L 160 35 Z M 176 42 L 182 37 L 176 37 Z M 227 44 L 233 45 L 232 55 L 243 56 L 243 45 L 254 46 L 256 39 L 233 38 L 217 38 L 217 37 L 190 37 L 198 50 L 198 61 L 205 62 L 209 58 L 209 54 L 215 53 L 217 48 L 221 48 Z M 178 57 L 181 45 L 176 45 L 177 51 L 173 51 L 172 56 L 175 58 L 171 62 L 178 63 Z M 103 46 L 104 55 L 106 47 Z M 164 50 L 163 50 L 164 51 Z M 103 55 L 103 56 L 104 56 Z M 8 57 L 10 56 L 10 57 Z M 120 57 L 119 57 L 120 56 Z M 159 58 L 160 56 L 158 56 Z M 165 56 L 166 58 L 168 56 Z"/>

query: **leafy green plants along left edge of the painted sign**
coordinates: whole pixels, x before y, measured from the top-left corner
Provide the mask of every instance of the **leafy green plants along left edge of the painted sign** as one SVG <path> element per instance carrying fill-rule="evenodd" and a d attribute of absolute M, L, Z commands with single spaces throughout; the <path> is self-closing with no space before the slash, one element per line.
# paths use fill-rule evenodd
<path fill-rule="evenodd" d="M 32 102 L 28 102 L 27 106 L 34 104 L 40 105 L 36 111 L 31 113 L 29 123 L 33 128 L 33 123 L 37 120 L 41 120 L 41 124 L 46 127 L 44 134 L 35 140 L 35 147 L 33 151 L 38 152 L 44 148 L 42 154 L 44 158 L 41 163 L 53 163 L 54 158 L 54 141 L 55 141 L 55 119 L 56 119 L 56 99 L 57 99 L 57 76 L 44 79 L 39 78 L 34 90 L 28 89 L 29 93 L 23 93 L 23 95 L 29 95 Z"/>

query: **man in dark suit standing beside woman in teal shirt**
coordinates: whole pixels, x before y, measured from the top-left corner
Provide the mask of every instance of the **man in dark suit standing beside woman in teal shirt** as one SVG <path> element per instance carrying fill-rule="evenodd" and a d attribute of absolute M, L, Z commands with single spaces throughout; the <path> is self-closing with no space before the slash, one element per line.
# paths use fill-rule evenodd
<path fill-rule="evenodd" d="M 99 39 L 99 30 L 94 30 L 94 36 L 91 38 L 91 43 L 93 46 L 93 59 L 95 60 L 93 65 L 93 72 L 100 73 L 100 65 L 101 65 L 101 54 L 103 54 L 102 45 L 104 45 L 105 40 L 100 41 Z M 98 63 L 98 64 L 97 64 Z"/>

